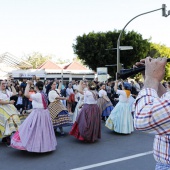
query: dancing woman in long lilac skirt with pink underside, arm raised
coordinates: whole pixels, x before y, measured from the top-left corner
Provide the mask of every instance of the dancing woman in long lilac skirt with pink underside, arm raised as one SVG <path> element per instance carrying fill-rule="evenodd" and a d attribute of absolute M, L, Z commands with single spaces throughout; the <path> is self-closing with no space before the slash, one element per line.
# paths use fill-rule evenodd
<path fill-rule="evenodd" d="M 43 82 L 36 83 L 36 94 L 29 95 L 31 82 L 27 82 L 25 96 L 32 99 L 32 112 L 11 139 L 11 147 L 29 152 L 54 151 L 57 141 L 47 109 L 48 101 L 43 92 Z"/>

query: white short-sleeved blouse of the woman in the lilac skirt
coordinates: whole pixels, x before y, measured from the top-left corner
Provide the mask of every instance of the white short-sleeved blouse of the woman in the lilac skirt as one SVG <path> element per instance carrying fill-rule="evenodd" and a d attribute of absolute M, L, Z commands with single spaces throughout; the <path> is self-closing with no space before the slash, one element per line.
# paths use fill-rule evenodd
<path fill-rule="evenodd" d="M 32 107 L 34 109 L 44 108 L 41 93 L 31 94 L 30 99 L 32 99 Z"/>

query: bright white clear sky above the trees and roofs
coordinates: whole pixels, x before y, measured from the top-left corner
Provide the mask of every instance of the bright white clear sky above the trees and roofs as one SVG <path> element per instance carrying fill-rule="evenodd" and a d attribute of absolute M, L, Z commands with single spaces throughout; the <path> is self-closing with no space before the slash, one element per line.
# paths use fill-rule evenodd
<path fill-rule="evenodd" d="M 78 35 L 122 29 L 162 4 L 170 10 L 170 0 L 0 0 L 0 54 L 72 59 Z M 170 47 L 170 16 L 162 17 L 161 10 L 136 18 L 126 30 Z"/>

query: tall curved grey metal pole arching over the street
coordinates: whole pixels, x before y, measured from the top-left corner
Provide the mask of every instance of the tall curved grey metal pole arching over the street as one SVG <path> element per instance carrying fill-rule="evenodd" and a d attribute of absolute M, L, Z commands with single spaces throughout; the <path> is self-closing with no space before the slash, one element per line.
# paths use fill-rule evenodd
<path fill-rule="evenodd" d="M 127 25 L 133 21 L 135 18 L 139 17 L 139 16 L 142 16 L 142 15 L 145 15 L 145 14 L 149 14 L 149 13 L 152 13 L 152 12 L 156 12 L 156 11 L 159 11 L 159 10 L 162 10 L 162 16 L 164 17 L 167 17 L 168 15 L 170 15 L 170 11 L 168 11 L 168 14 L 166 14 L 166 5 L 165 4 L 162 4 L 162 8 L 158 8 L 158 9 L 155 9 L 155 10 L 152 10 L 152 11 L 148 11 L 148 12 L 145 12 L 145 13 L 142 13 L 142 14 L 139 14 L 137 16 L 135 16 L 134 18 L 132 18 L 125 26 L 124 28 L 121 30 L 120 34 L 119 34 L 119 37 L 118 37 L 118 40 L 117 40 L 117 74 L 116 74 L 116 80 L 118 79 L 118 73 L 120 73 L 120 68 L 121 68 L 121 65 L 120 65 L 120 39 L 121 39 L 121 36 L 122 36 L 122 33 L 123 31 L 125 30 L 125 28 L 127 27 Z"/>

